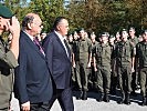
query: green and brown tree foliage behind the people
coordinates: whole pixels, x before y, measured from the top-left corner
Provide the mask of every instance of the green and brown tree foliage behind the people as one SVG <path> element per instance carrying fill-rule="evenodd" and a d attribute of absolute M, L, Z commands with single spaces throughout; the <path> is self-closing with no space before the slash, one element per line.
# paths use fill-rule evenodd
<path fill-rule="evenodd" d="M 109 31 L 112 33 L 129 26 L 138 30 L 147 28 L 147 0 L 6 0 L 6 4 L 20 21 L 29 12 L 40 14 L 44 29 L 52 29 L 59 16 L 69 18 L 70 29 L 84 28 L 87 31 Z"/>

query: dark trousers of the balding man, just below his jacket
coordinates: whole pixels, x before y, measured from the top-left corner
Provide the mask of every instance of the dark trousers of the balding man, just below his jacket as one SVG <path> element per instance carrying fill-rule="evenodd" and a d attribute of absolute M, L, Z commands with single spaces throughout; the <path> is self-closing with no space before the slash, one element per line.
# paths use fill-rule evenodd
<path fill-rule="evenodd" d="M 30 111 L 50 111 L 49 102 L 31 103 Z M 20 111 L 22 111 L 20 109 Z"/>

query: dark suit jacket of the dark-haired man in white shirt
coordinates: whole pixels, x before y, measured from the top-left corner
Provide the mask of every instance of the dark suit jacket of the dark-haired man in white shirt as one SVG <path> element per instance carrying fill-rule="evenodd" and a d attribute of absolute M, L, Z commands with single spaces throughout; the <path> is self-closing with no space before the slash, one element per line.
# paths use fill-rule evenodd
<path fill-rule="evenodd" d="M 55 32 L 51 32 L 43 41 L 48 65 L 53 77 L 56 89 L 71 85 L 71 52 L 69 57 Z"/>

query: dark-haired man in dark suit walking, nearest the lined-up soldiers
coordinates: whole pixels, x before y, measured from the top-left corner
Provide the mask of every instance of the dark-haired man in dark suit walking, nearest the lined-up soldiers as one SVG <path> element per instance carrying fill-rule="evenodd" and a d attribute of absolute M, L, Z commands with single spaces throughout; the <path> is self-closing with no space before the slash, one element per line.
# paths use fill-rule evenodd
<path fill-rule="evenodd" d="M 54 31 L 44 39 L 48 65 L 54 81 L 54 93 L 50 107 L 57 99 L 63 111 L 74 111 L 71 90 L 71 52 L 66 46 L 65 36 L 69 22 L 64 17 L 56 18 Z"/>

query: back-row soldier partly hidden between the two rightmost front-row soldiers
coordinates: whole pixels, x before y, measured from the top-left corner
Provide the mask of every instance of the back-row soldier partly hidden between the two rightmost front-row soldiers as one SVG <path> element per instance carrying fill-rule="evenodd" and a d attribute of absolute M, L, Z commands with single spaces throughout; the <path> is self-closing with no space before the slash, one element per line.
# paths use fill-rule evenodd
<path fill-rule="evenodd" d="M 135 28 L 134 27 L 129 28 L 129 37 L 128 37 L 128 39 L 129 39 L 130 43 L 134 47 L 136 47 L 136 44 L 138 43 L 138 38 L 135 36 Z M 136 95 L 135 90 L 138 89 L 137 88 L 138 87 L 138 72 L 137 72 L 136 58 L 135 58 L 135 60 L 133 62 L 135 62 L 135 70 L 132 73 L 132 75 L 133 75 L 132 77 L 133 78 L 133 80 L 132 80 L 132 89 L 133 89 L 132 94 Z"/>

